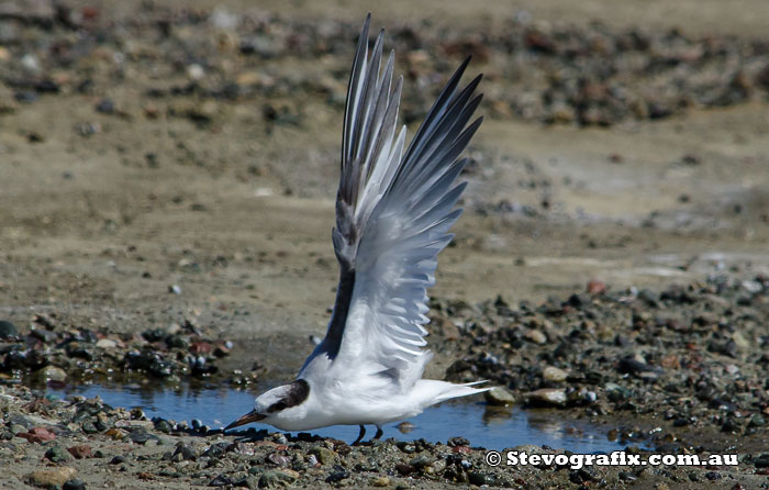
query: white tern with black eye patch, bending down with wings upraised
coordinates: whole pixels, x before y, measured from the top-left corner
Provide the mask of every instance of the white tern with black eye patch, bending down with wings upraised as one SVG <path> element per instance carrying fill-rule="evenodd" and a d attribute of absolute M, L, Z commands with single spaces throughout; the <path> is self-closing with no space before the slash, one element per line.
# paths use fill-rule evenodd
<path fill-rule="evenodd" d="M 427 288 L 438 253 L 461 209 L 467 182 L 455 181 L 459 159 L 482 118 L 468 124 L 482 96 L 479 75 L 459 90 L 470 58 L 450 77 L 405 148 L 398 131 L 403 77 L 394 85 L 394 53 L 383 69 L 382 30 L 369 53 L 366 16 L 347 88 L 342 170 L 332 230 L 339 285 L 325 338 L 290 385 L 256 399 L 253 411 L 225 430 L 263 422 L 283 431 L 366 425 L 408 419 L 445 400 L 480 393 L 479 382 L 422 379 L 432 358 L 424 337 Z M 404 151 L 405 148 L 405 151 Z"/>

